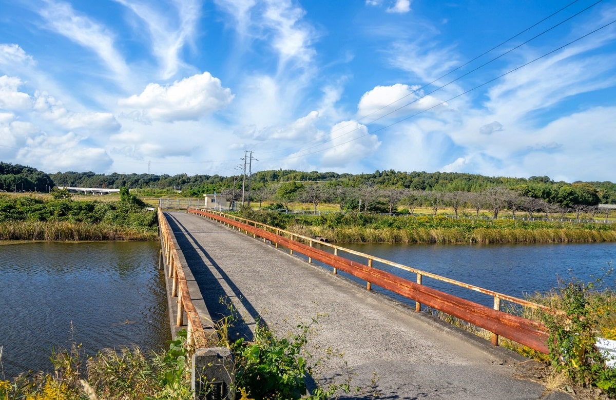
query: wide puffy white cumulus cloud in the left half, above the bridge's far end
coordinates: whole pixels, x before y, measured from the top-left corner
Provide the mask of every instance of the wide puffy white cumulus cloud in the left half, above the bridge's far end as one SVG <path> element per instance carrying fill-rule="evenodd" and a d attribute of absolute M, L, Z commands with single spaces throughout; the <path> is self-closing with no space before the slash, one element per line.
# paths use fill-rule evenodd
<path fill-rule="evenodd" d="M 137 111 L 146 119 L 170 122 L 200 119 L 232 100 L 231 90 L 204 72 L 168 86 L 150 83 L 141 94 L 118 100 L 118 105 L 126 108 L 125 115 Z"/>

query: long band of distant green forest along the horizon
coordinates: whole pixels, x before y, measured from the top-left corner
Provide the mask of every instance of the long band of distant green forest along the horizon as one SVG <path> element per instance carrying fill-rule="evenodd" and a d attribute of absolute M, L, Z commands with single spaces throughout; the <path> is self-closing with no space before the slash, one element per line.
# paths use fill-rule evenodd
<path fill-rule="evenodd" d="M 563 204 L 565 198 L 583 198 L 588 205 L 616 204 L 616 184 L 612 182 L 555 182 L 551 178 L 486 177 L 456 172 L 400 172 L 376 170 L 372 174 L 337 174 L 336 172 L 302 172 L 298 170 L 265 170 L 245 177 L 235 175 L 154 175 L 154 174 L 95 174 L 94 172 L 57 172 L 45 174 L 35 168 L 0 162 L 1 191 L 49 191 L 53 186 L 81 186 L 89 188 L 152 189 L 158 193 L 180 191 L 182 196 L 201 196 L 214 191 L 241 191 L 243 183 L 256 191 L 275 189 L 280 183 L 301 185 L 317 183 L 326 188 L 399 188 L 413 191 L 480 193 L 500 187 L 528 198 Z M 579 201 L 578 201 L 579 202 Z"/>

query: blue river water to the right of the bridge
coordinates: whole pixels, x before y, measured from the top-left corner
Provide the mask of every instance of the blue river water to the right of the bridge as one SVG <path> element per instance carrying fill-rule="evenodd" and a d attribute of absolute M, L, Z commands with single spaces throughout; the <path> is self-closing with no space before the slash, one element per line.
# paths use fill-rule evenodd
<path fill-rule="evenodd" d="M 525 298 L 535 292 L 548 292 L 556 288 L 559 278 L 564 281 L 581 279 L 594 281 L 602 278 L 604 286 L 616 287 L 616 274 L 604 276 L 616 261 L 616 243 L 583 244 L 343 244 L 375 257 L 431 272 L 446 278 L 490 289 L 495 292 Z M 367 264 L 365 258 L 338 253 Z M 416 274 L 399 268 L 374 263 L 375 268 L 415 282 Z M 616 265 L 615 265 L 616 266 Z M 354 277 L 347 276 L 361 284 Z M 444 290 L 473 302 L 493 305 L 493 298 L 479 292 L 452 286 L 442 281 L 423 278 L 423 284 Z M 415 305 L 399 295 L 373 286 L 400 302 Z"/>

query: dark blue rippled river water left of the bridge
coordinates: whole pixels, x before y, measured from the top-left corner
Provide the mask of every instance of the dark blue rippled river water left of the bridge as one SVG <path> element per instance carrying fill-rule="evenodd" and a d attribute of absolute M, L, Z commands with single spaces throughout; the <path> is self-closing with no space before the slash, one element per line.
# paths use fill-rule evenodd
<path fill-rule="evenodd" d="M 171 338 L 158 242 L 0 246 L 0 379 L 52 370 L 52 349 L 87 354 Z"/>

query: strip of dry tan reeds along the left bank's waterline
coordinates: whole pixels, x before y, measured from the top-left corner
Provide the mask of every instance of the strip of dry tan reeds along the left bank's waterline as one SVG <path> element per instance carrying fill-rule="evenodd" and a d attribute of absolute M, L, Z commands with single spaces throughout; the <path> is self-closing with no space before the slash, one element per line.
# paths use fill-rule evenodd
<path fill-rule="evenodd" d="M 153 231 L 136 230 L 107 223 L 67 221 L 10 221 L 0 223 L 0 240 L 105 241 L 156 240 Z"/>

